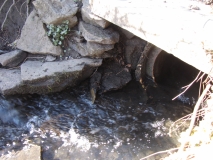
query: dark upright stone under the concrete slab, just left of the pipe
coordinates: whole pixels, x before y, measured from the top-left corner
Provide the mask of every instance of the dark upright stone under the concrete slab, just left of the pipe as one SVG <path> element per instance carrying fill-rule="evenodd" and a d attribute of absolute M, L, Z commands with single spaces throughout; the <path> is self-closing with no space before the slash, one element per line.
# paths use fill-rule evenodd
<path fill-rule="evenodd" d="M 141 53 L 144 50 L 146 41 L 135 37 L 126 41 L 125 47 L 125 61 L 127 64 L 131 65 L 131 69 L 135 70 L 140 59 Z"/>

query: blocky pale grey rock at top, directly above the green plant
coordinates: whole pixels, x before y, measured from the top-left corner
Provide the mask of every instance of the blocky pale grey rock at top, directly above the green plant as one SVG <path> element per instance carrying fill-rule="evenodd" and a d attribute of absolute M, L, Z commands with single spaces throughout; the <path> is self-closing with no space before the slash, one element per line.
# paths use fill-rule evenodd
<path fill-rule="evenodd" d="M 74 0 L 36 0 L 33 4 L 39 17 L 46 24 L 60 24 L 64 20 L 70 21 L 70 27 L 77 24 L 75 14 L 78 5 Z"/>

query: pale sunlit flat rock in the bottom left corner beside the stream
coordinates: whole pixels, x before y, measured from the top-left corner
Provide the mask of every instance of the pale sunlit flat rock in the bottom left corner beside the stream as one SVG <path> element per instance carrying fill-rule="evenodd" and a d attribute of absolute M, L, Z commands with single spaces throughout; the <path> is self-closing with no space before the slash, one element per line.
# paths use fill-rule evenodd
<path fill-rule="evenodd" d="M 29 148 L 24 148 L 21 151 L 12 151 L 8 155 L 0 157 L 0 160 L 41 160 L 41 147 L 36 145 L 30 145 Z"/>

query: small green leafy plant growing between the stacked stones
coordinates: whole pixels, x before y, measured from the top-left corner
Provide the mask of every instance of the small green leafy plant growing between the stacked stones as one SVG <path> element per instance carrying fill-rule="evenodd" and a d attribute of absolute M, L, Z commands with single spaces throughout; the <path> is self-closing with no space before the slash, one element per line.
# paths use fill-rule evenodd
<path fill-rule="evenodd" d="M 68 20 L 62 22 L 59 25 L 54 24 L 47 25 L 47 36 L 50 37 L 55 46 L 62 46 L 63 41 L 69 32 L 70 28 Z"/>

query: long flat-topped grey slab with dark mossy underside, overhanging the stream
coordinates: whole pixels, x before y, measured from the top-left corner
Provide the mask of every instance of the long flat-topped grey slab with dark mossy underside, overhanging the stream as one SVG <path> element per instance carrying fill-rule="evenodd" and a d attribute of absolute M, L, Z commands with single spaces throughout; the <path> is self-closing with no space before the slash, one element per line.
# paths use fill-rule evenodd
<path fill-rule="evenodd" d="M 101 59 L 89 58 L 45 63 L 27 61 L 21 66 L 21 78 L 31 88 L 40 86 L 31 92 L 56 92 L 88 78 L 101 64 Z"/>

